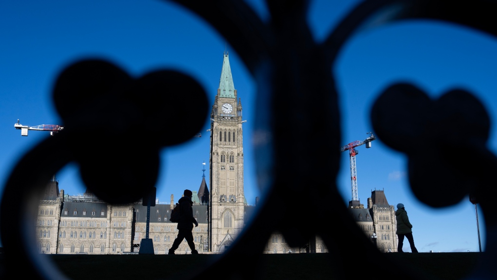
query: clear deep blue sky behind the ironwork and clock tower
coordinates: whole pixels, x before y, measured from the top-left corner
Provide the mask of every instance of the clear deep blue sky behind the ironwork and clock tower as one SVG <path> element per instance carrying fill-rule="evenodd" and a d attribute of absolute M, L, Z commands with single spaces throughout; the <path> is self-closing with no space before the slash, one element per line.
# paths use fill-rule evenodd
<path fill-rule="evenodd" d="M 262 18 L 268 18 L 262 1 L 249 2 Z M 309 24 L 317 41 L 326 38 L 359 1 L 342 2 L 345 1 L 312 2 Z M 21 137 L 20 131 L 13 128 L 17 119 L 29 126 L 60 123 L 51 93 L 54 80 L 64 67 L 83 58 L 104 58 L 134 76 L 156 69 L 181 70 L 202 84 L 212 104 L 226 47 L 226 40 L 202 19 L 159 0 L 1 1 L 0 40 L 0 190 L 18 159 L 49 137 L 49 133 L 32 131 L 28 137 Z M 235 50 L 229 44 L 227 49 L 235 88 L 244 106 L 244 119 L 248 121 L 244 124 L 245 195 L 248 203 L 254 204 L 255 197 L 260 195 L 251 147 L 256 86 Z M 465 88 L 483 101 L 495 123 L 496 49 L 497 41 L 488 35 L 435 21 L 404 21 L 355 34 L 333 67 L 341 105 L 343 145 L 366 138 L 366 132 L 372 130 L 372 102 L 389 84 L 398 81 L 412 82 L 433 98 L 451 88 Z M 202 162 L 209 161 L 208 128 L 206 122 L 202 138 L 162 152 L 162 172 L 157 184 L 161 202 L 169 202 L 171 194 L 177 201 L 184 189 L 198 190 Z M 137 129 L 137 133 L 153 132 Z M 288 132 L 288 136 L 292 137 L 292 133 Z M 381 140 L 372 145 L 367 150 L 359 147 L 357 155 L 361 202 L 366 204 L 371 190 L 377 189 L 385 190 L 391 205 L 403 203 L 414 225 L 414 241 L 420 252 L 478 251 L 475 209 L 469 200 L 441 210 L 423 205 L 410 191 L 404 155 L 386 147 Z M 495 125 L 488 145 L 493 152 L 497 151 Z M 57 178 L 66 193 L 85 190 L 76 165 L 58 172 Z M 351 198 L 346 152 L 342 154 L 337 183 L 345 205 Z M 485 244 L 483 214 L 480 218 Z"/>

